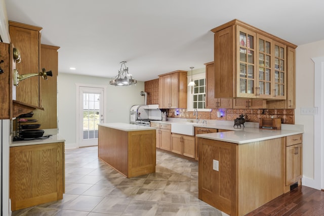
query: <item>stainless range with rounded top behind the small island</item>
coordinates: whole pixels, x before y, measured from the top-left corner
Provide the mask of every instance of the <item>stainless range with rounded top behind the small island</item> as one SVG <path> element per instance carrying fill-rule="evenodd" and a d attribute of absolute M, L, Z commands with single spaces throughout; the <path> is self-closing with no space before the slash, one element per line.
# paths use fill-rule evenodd
<path fill-rule="evenodd" d="M 150 121 L 162 120 L 158 105 L 134 105 L 130 110 L 130 123 L 150 126 Z"/>

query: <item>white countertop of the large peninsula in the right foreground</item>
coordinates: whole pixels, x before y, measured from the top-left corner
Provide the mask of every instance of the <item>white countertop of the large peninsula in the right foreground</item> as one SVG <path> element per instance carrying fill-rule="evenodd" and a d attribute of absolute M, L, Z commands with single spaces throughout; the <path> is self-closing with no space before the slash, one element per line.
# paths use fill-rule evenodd
<path fill-rule="evenodd" d="M 262 140 L 270 140 L 280 137 L 287 137 L 296 134 L 303 134 L 302 130 L 291 131 L 291 130 L 272 130 L 272 129 L 258 129 L 258 128 L 247 128 L 240 131 L 229 131 L 219 132 L 211 134 L 199 134 L 196 135 L 198 138 L 205 138 L 210 140 L 218 140 L 228 143 L 244 144 Z"/>

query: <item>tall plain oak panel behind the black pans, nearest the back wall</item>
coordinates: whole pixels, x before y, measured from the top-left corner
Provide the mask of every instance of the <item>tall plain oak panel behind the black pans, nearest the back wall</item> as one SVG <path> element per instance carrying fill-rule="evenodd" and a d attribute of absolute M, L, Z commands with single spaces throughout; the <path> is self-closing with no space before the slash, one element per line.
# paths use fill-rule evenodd
<path fill-rule="evenodd" d="M 41 66 L 52 70 L 52 77 L 39 81 L 42 107 L 44 110 L 34 110 L 33 118 L 38 119 L 40 129 L 57 128 L 57 76 L 58 76 L 58 49 L 59 47 L 41 45 Z M 20 83 L 19 83 L 20 84 Z"/>

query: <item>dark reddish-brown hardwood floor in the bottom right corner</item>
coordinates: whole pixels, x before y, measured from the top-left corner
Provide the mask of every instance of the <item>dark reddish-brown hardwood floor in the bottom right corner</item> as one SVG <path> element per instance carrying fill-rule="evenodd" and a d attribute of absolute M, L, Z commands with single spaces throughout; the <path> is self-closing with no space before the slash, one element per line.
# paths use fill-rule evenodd
<path fill-rule="evenodd" d="M 300 186 L 247 215 L 324 215 L 324 191 Z"/>

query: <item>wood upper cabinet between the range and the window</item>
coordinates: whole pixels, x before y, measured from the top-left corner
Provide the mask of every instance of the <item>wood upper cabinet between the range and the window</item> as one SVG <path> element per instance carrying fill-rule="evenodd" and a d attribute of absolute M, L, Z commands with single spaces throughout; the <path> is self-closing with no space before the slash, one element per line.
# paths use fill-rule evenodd
<path fill-rule="evenodd" d="M 187 71 L 159 75 L 159 108 L 187 108 Z"/>

